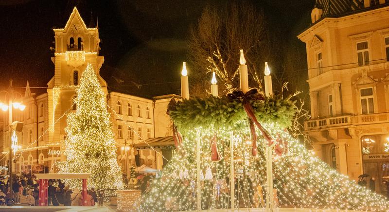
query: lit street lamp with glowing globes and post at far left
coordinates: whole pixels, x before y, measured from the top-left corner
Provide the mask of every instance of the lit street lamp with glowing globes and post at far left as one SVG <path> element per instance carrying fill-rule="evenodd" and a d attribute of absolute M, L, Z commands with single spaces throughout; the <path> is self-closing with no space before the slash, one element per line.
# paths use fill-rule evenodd
<path fill-rule="evenodd" d="M 12 131 L 21 131 L 22 127 L 23 127 L 23 123 L 20 123 L 20 122 L 12 122 L 12 109 L 15 108 L 15 109 L 19 109 L 21 111 L 23 111 L 26 106 L 22 104 L 23 102 L 23 96 L 15 91 L 12 87 L 12 80 L 9 81 L 9 87 L 6 89 L 6 90 L 2 90 L 0 91 L 0 93 L 5 93 L 4 94 L 4 101 L 3 102 L 0 102 L 0 107 L 1 107 L 1 110 L 2 111 L 8 111 L 9 113 L 9 122 L 8 122 L 8 125 L 9 125 L 9 164 L 8 164 L 8 172 L 9 172 L 9 180 L 8 180 L 8 186 L 10 188 L 10 192 L 11 192 L 11 199 L 10 201 L 8 201 L 8 205 L 13 205 L 14 202 L 12 200 L 13 198 L 13 190 L 12 190 L 12 184 L 13 184 L 13 177 L 12 177 L 12 160 L 14 159 L 14 156 L 13 156 L 13 147 L 15 148 L 15 153 L 16 153 L 16 150 L 18 148 L 18 145 L 14 143 L 14 145 L 12 145 L 12 140 L 14 140 L 14 142 L 17 141 L 17 137 L 12 136 Z M 17 102 L 17 95 L 20 96 L 20 101 L 21 102 Z M 8 97 L 8 105 L 6 105 L 6 99 Z M 15 138 L 16 137 L 16 138 Z"/>

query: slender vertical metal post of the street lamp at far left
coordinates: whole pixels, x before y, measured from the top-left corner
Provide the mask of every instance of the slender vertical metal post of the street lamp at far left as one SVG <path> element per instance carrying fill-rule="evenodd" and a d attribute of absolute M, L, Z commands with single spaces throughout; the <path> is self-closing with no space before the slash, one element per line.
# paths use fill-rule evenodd
<path fill-rule="evenodd" d="M 12 200 L 12 198 L 14 198 L 14 190 L 12 188 L 12 184 L 13 184 L 13 177 L 12 177 L 12 160 L 14 158 L 14 152 L 12 151 L 12 127 L 11 127 L 11 124 L 12 124 L 12 98 L 13 98 L 13 90 L 12 90 L 12 80 L 9 81 L 9 105 L 8 105 L 8 110 L 9 110 L 9 122 L 8 122 L 8 126 L 9 126 L 9 167 L 8 167 L 8 171 L 9 171 L 9 179 L 8 179 L 8 185 L 9 185 L 9 188 L 10 189 L 10 193 L 11 193 L 11 200 L 8 201 L 8 205 L 13 205 L 14 204 L 14 201 Z M 15 166 L 16 168 L 16 166 Z"/>

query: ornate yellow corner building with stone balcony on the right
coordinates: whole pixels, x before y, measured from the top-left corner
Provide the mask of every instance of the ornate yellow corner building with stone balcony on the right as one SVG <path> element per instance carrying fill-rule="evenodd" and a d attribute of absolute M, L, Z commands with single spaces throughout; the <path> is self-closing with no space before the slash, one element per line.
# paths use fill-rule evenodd
<path fill-rule="evenodd" d="M 314 151 L 357 179 L 389 176 L 389 1 L 317 0 L 306 44 Z M 370 178 L 369 178 L 370 179 Z"/>

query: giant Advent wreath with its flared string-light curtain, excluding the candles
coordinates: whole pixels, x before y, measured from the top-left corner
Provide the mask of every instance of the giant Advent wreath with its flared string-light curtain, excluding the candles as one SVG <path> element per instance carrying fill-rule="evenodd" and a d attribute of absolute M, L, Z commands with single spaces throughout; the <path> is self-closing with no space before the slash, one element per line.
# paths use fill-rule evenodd
<path fill-rule="evenodd" d="M 267 146 L 273 152 L 274 190 L 270 194 L 274 195 L 275 208 L 389 209 L 383 195 L 337 173 L 288 133 L 297 111 L 289 97 L 267 98 L 252 90 L 246 94 L 237 91 L 228 97 L 192 98 L 169 110 L 176 126 L 177 151 L 141 198 L 139 211 L 196 210 L 197 186 L 201 210 L 229 209 L 231 196 L 235 209 L 265 207 Z M 197 142 L 200 151 L 196 150 Z M 232 159 L 234 195 L 230 186 Z"/>

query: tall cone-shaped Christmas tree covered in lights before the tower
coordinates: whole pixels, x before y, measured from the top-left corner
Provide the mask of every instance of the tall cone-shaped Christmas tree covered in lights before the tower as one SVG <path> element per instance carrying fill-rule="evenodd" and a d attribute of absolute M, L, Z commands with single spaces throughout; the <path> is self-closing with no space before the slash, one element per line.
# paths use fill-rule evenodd
<path fill-rule="evenodd" d="M 88 63 L 76 90 L 77 109 L 68 115 L 66 161 L 59 164 L 61 173 L 90 173 L 89 187 L 120 189 L 121 169 L 116 161 L 112 123 L 107 112 L 106 95 L 97 75 Z M 71 187 L 81 187 L 80 180 L 69 180 Z"/>

